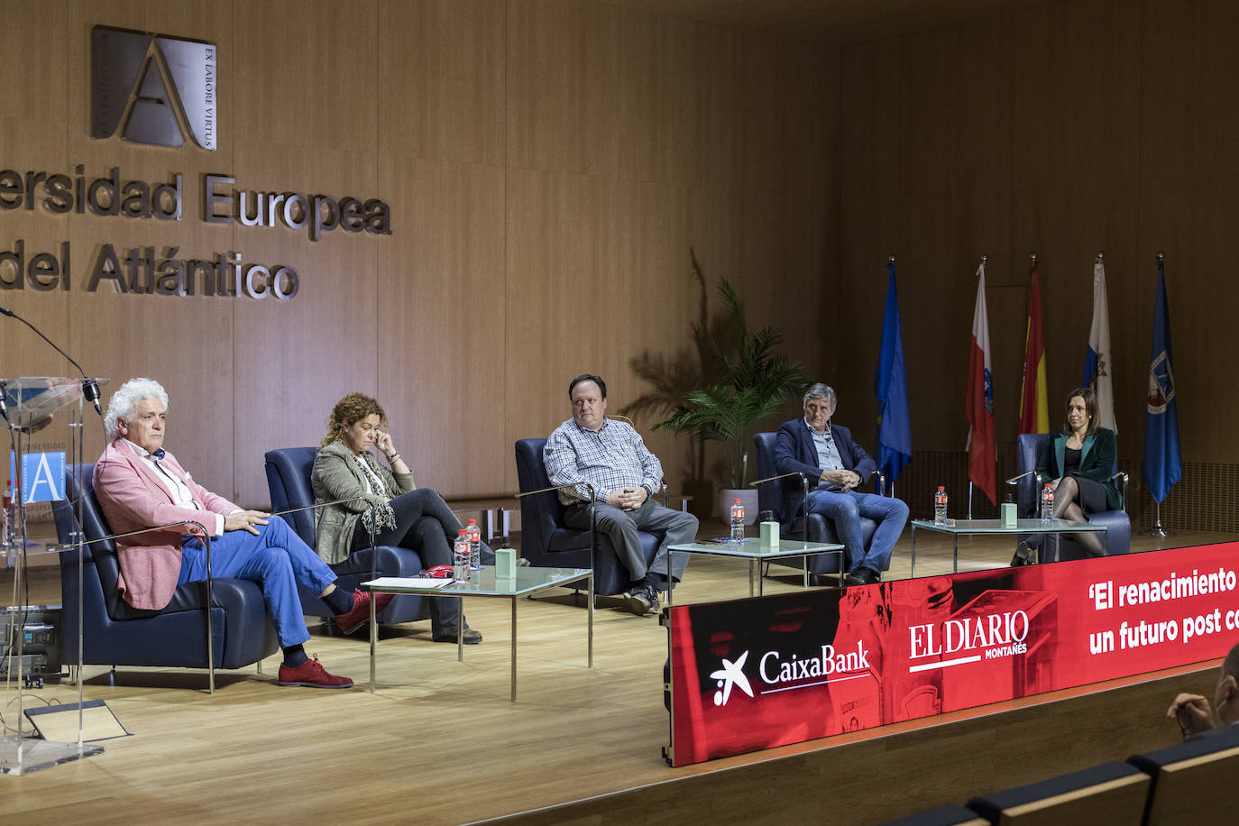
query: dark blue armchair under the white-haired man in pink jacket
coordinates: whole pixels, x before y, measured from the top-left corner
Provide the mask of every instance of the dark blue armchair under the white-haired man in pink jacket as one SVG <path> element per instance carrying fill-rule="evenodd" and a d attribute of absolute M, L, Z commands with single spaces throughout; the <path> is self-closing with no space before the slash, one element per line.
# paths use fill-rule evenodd
<path fill-rule="evenodd" d="M 139 665 L 211 669 L 240 669 L 261 661 L 279 650 L 279 639 L 263 603 L 263 591 L 244 580 L 213 578 L 208 585 L 177 586 L 162 611 L 140 611 L 120 596 L 116 587 L 120 562 L 103 511 L 94 498 L 94 464 L 82 466 L 82 488 L 76 471 L 66 476 L 68 500 L 52 503 L 56 534 L 62 544 L 77 541 L 78 518 L 71 504 L 82 500 L 82 663 L 85 665 Z M 78 660 L 78 555 L 61 552 L 61 599 L 64 634 L 62 661 Z M 211 651 L 207 655 L 207 628 Z"/>

